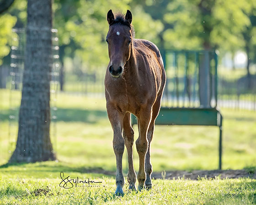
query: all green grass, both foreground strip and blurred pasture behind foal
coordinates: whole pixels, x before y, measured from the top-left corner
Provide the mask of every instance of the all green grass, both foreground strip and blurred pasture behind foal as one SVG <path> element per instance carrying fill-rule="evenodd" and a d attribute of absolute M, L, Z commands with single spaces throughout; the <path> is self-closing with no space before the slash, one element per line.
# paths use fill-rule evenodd
<path fill-rule="evenodd" d="M 17 99 L 15 107 L 19 104 L 19 94 L 13 95 Z M 0 102 L 0 164 L 5 164 L 10 157 L 9 145 L 13 150 L 16 138 L 8 139 L 10 92 L 0 90 L 0 97 L 4 99 Z M 58 118 L 52 123 L 52 131 L 56 127 L 57 134 L 52 136 L 52 142 L 58 161 L 2 165 L 0 204 L 256 204 L 255 179 L 155 179 L 150 191 L 128 193 L 126 184 L 125 195 L 116 197 L 111 174 L 116 166 L 112 128 L 104 98 L 59 93 L 57 107 Z M 256 113 L 229 109 L 221 112 L 223 169 L 255 167 Z M 137 138 L 137 128 L 135 131 Z M 16 132 L 15 126 L 11 132 Z M 219 130 L 215 127 L 156 126 L 151 150 L 153 171 L 217 169 L 218 137 Z M 136 151 L 134 159 L 137 172 Z M 124 154 L 125 173 L 126 164 Z M 61 171 L 73 179 L 90 178 L 102 184 L 65 190 L 59 187 Z"/>

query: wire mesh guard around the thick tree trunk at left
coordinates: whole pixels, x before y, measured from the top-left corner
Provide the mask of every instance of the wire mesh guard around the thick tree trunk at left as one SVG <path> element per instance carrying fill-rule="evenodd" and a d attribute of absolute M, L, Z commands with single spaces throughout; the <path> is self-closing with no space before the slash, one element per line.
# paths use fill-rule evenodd
<path fill-rule="evenodd" d="M 13 29 L 15 37 L 11 46 L 11 64 L 10 75 L 7 77 L 5 87 L 9 89 L 9 131 L 8 131 L 8 153 L 15 149 L 16 137 L 18 133 L 18 111 L 21 103 L 22 77 L 24 71 L 24 54 L 26 45 L 26 36 L 24 29 Z M 59 38 L 58 31 L 52 29 L 52 58 L 53 65 L 51 69 L 50 81 L 50 107 L 51 107 L 51 136 L 53 139 L 54 150 L 57 150 L 56 137 L 56 101 L 59 90 Z M 7 99 L 5 99 L 7 100 Z"/>

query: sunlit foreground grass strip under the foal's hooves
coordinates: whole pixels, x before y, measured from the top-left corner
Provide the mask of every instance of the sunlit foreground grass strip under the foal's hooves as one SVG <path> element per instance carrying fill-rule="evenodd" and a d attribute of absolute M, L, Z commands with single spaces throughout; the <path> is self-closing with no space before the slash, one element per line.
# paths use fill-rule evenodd
<path fill-rule="evenodd" d="M 77 176 L 79 179 L 93 179 L 101 181 L 98 187 L 73 187 L 64 189 L 59 187 L 61 179 L 59 172 L 49 172 L 44 169 L 44 164 L 27 164 L 26 166 L 14 166 L 1 168 L 0 180 L 0 204 L 112 204 L 112 205 L 145 205 L 145 204 L 256 204 L 256 180 L 255 179 L 224 179 L 208 180 L 153 180 L 151 190 L 141 192 L 129 192 L 124 185 L 124 196 L 113 195 L 115 191 L 115 179 L 97 174 L 81 172 L 69 172 L 71 179 Z M 24 168 L 25 167 L 25 168 Z M 27 167 L 27 168 L 26 168 Z M 11 173 L 12 169 L 38 169 L 41 174 L 31 173 L 30 176 Z M 59 168 L 59 167 L 58 167 Z M 35 177 L 34 175 L 35 174 Z M 40 178 L 38 178 L 40 175 Z M 66 175 L 65 175 L 66 176 Z"/>

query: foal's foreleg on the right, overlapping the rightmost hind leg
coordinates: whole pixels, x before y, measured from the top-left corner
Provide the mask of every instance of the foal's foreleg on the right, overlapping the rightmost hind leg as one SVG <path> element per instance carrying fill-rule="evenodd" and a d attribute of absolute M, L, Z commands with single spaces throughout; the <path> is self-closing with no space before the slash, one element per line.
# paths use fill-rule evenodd
<path fill-rule="evenodd" d="M 139 114 L 139 138 L 136 140 L 136 148 L 139 154 L 139 172 L 138 172 L 138 181 L 139 186 L 138 190 L 143 189 L 145 186 L 145 154 L 148 150 L 148 139 L 147 132 L 149 128 L 149 123 L 151 120 L 151 109 L 142 111 Z"/>

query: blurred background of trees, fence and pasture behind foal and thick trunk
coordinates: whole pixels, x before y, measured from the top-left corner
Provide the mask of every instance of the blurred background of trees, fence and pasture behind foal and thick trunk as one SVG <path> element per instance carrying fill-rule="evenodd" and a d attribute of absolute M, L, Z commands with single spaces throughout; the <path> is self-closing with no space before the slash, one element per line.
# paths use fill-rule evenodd
<path fill-rule="evenodd" d="M 191 67 L 196 62 L 196 54 L 175 60 L 176 52 L 218 54 L 215 94 L 224 117 L 223 169 L 255 167 L 255 0 L 54 0 L 51 140 L 58 162 L 115 170 L 104 97 L 109 9 L 131 10 L 136 38 L 159 47 L 170 97 L 177 94 L 174 77 L 184 78 L 175 67 L 186 67 L 186 59 Z M 16 0 L 0 16 L 0 164 L 16 144 L 26 19 L 27 0 Z M 156 126 L 153 169 L 217 169 L 218 134 L 216 127 Z"/>

